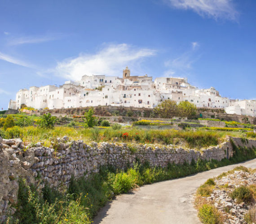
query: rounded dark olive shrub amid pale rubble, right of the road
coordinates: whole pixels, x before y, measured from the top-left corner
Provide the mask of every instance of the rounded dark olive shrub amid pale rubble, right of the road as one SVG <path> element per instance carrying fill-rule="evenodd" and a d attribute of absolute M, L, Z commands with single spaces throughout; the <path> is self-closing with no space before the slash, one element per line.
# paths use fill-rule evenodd
<path fill-rule="evenodd" d="M 236 187 L 231 193 L 230 197 L 234 200 L 238 200 L 238 203 L 245 202 L 249 203 L 253 200 L 253 195 L 251 190 L 247 186 Z"/>

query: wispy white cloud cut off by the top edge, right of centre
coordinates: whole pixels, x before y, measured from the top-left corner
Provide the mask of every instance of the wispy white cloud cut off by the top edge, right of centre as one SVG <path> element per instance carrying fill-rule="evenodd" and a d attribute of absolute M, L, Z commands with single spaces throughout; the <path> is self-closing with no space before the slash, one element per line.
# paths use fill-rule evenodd
<path fill-rule="evenodd" d="M 238 12 L 234 0 L 165 0 L 177 9 L 190 9 L 200 16 L 236 20 Z"/>

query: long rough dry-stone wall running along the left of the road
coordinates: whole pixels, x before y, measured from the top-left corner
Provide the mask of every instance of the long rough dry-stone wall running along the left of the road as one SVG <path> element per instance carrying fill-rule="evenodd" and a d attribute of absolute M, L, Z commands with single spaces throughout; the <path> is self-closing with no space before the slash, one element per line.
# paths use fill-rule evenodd
<path fill-rule="evenodd" d="M 239 145 L 256 146 L 256 141 L 241 141 L 233 138 Z M 54 142 L 53 142 L 54 143 Z M 55 144 L 55 143 L 54 143 Z M 53 187 L 62 189 L 71 180 L 71 175 L 79 177 L 99 172 L 101 166 L 112 165 L 126 168 L 139 159 L 141 163 L 150 162 L 151 166 L 165 167 L 168 163 L 183 164 L 201 159 L 221 160 L 233 156 L 229 137 L 219 146 L 211 146 L 199 151 L 173 148 L 172 145 L 152 148 L 147 145 L 127 146 L 125 143 L 96 143 L 69 141 L 67 137 L 58 139 L 55 149 L 41 147 L 23 151 L 20 139 L 0 137 L 0 222 L 5 215 L 14 214 L 18 197 L 18 178 L 26 178 L 29 183 L 48 181 Z M 44 183 L 40 184 L 43 187 Z"/>

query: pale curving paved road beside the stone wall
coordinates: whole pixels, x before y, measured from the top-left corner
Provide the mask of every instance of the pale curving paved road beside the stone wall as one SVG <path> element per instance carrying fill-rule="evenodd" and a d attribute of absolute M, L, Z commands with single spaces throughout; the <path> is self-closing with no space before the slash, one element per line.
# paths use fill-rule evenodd
<path fill-rule="evenodd" d="M 237 165 L 145 185 L 130 194 L 119 195 L 99 211 L 94 224 L 198 224 L 192 195 L 208 178 Z M 256 159 L 239 165 L 256 168 Z"/>

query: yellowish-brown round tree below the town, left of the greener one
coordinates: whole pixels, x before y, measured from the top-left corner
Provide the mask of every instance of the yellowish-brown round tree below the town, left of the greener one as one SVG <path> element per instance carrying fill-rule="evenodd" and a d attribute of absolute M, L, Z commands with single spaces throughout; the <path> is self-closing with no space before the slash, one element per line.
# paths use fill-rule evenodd
<path fill-rule="evenodd" d="M 160 117 L 172 118 L 178 114 L 177 103 L 171 99 L 166 99 L 154 108 L 154 112 L 156 112 Z"/>

